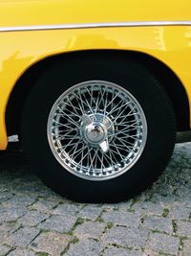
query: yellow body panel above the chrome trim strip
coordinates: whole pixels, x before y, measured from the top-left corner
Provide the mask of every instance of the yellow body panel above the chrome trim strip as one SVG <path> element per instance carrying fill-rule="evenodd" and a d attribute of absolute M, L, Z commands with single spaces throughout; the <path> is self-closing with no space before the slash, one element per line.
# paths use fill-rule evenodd
<path fill-rule="evenodd" d="M 189 20 L 190 0 L 1 0 L 0 26 Z"/>

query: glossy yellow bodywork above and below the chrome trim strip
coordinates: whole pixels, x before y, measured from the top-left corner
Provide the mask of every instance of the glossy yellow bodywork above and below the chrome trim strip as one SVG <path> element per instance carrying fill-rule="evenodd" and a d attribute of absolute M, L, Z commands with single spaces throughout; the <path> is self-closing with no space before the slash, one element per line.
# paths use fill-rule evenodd
<path fill-rule="evenodd" d="M 189 20 L 190 1 L 0 1 L 0 27 L 149 20 Z M 108 10 L 110 12 L 108 12 Z M 191 105 L 191 26 L 128 27 L 0 33 L 0 150 L 7 147 L 5 111 L 15 82 L 53 55 L 116 49 L 151 55 L 182 81 Z M 27 86 L 27 84 L 26 84 Z"/>

